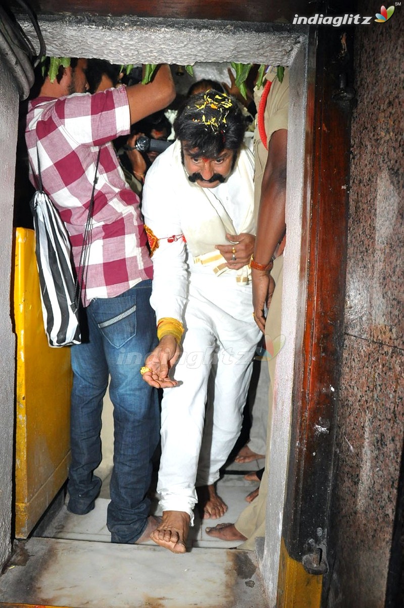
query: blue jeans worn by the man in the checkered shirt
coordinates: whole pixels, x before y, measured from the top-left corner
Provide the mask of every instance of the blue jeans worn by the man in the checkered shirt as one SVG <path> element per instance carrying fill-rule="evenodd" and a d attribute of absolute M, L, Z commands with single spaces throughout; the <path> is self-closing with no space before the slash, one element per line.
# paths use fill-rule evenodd
<path fill-rule="evenodd" d="M 159 440 L 155 389 L 139 373 L 156 345 L 150 280 L 121 295 L 95 299 L 86 308 L 88 342 L 71 348 L 71 454 L 69 503 L 72 513 L 94 508 L 101 481 L 94 475 L 101 454 L 102 400 L 110 381 L 114 406 L 114 466 L 106 524 L 112 542 L 133 543 L 147 526 L 152 455 Z"/>

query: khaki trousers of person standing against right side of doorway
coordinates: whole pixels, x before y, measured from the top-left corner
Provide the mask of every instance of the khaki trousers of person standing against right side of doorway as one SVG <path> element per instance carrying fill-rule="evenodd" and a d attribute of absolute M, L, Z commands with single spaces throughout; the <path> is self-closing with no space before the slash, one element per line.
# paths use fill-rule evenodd
<path fill-rule="evenodd" d="M 266 317 L 265 324 L 265 335 L 269 336 L 272 340 L 280 336 L 280 316 L 281 316 L 281 303 L 282 303 L 282 278 L 284 268 L 284 256 L 281 255 L 274 261 L 274 266 L 271 271 L 271 275 L 275 281 L 275 290 L 272 297 L 270 309 Z M 271 438 L 271 426 L 272 426 L 272 409 L 273 409 L 273 386 L 274 386 L 274 375 L 275 375 L 275 364 L 276 357 L 268 361 L 268 367 L 270 370 L 270 390 L 269 390 L 269 404 L 268 404 L 268 426 L 266 429 L 266 457 L 265 457 L 265 471 L 262 475 L 260 483 L 259 495 L 251 504 L 249 504 L 235 522 L 237 530 L 246 536 L 247 540 L 239 545 L 239 549 L 253 550 L 255 548 L 255 539 L 259 536 L 265 537 L 265 511 L 266 511 L 266 498 L 268 494 L 268 470 L 270 464 L 270 438 Z"/>

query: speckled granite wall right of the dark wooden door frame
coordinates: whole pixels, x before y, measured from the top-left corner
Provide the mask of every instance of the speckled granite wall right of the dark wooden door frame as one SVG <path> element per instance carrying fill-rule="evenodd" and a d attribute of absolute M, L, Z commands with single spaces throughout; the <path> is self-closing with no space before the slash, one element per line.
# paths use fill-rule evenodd
<path fill-rule="evenodd" d="M 372 15 L 372 23 L 357 26 L 354 45 L 335 561 L 326 601 L 344 608 L 404 605 L 389 589 L 400 567 L 392 546 L 404 437 L 404 8 L 395 7 L 383 24 L 373 21 L 376 10 L 374 2 L 359 3 L 358 13 Z"/>

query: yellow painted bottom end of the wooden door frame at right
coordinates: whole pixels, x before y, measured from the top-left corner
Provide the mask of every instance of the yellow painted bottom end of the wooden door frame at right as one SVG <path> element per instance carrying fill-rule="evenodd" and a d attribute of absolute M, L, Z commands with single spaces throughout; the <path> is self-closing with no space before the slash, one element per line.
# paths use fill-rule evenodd
<path fill-rule="evenodd" d="M 280 545 L 277 608 L 319 608 L 322 575 L 308 574 L 303 565 L 291 558 L 284 539 Z"/>

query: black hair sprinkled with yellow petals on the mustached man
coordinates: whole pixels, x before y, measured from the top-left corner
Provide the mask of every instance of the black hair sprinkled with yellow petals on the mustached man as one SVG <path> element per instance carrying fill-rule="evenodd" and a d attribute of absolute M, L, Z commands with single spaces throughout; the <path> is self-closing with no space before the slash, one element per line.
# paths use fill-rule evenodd
<path fill-rule="evenodd" d="M 179 109 L 174 122 L 175 136 L 207 158 L 223 150 L 238 151 L 243 142 L 245 120 L 234 97 L 207 91 L 193 95 Z"/>

